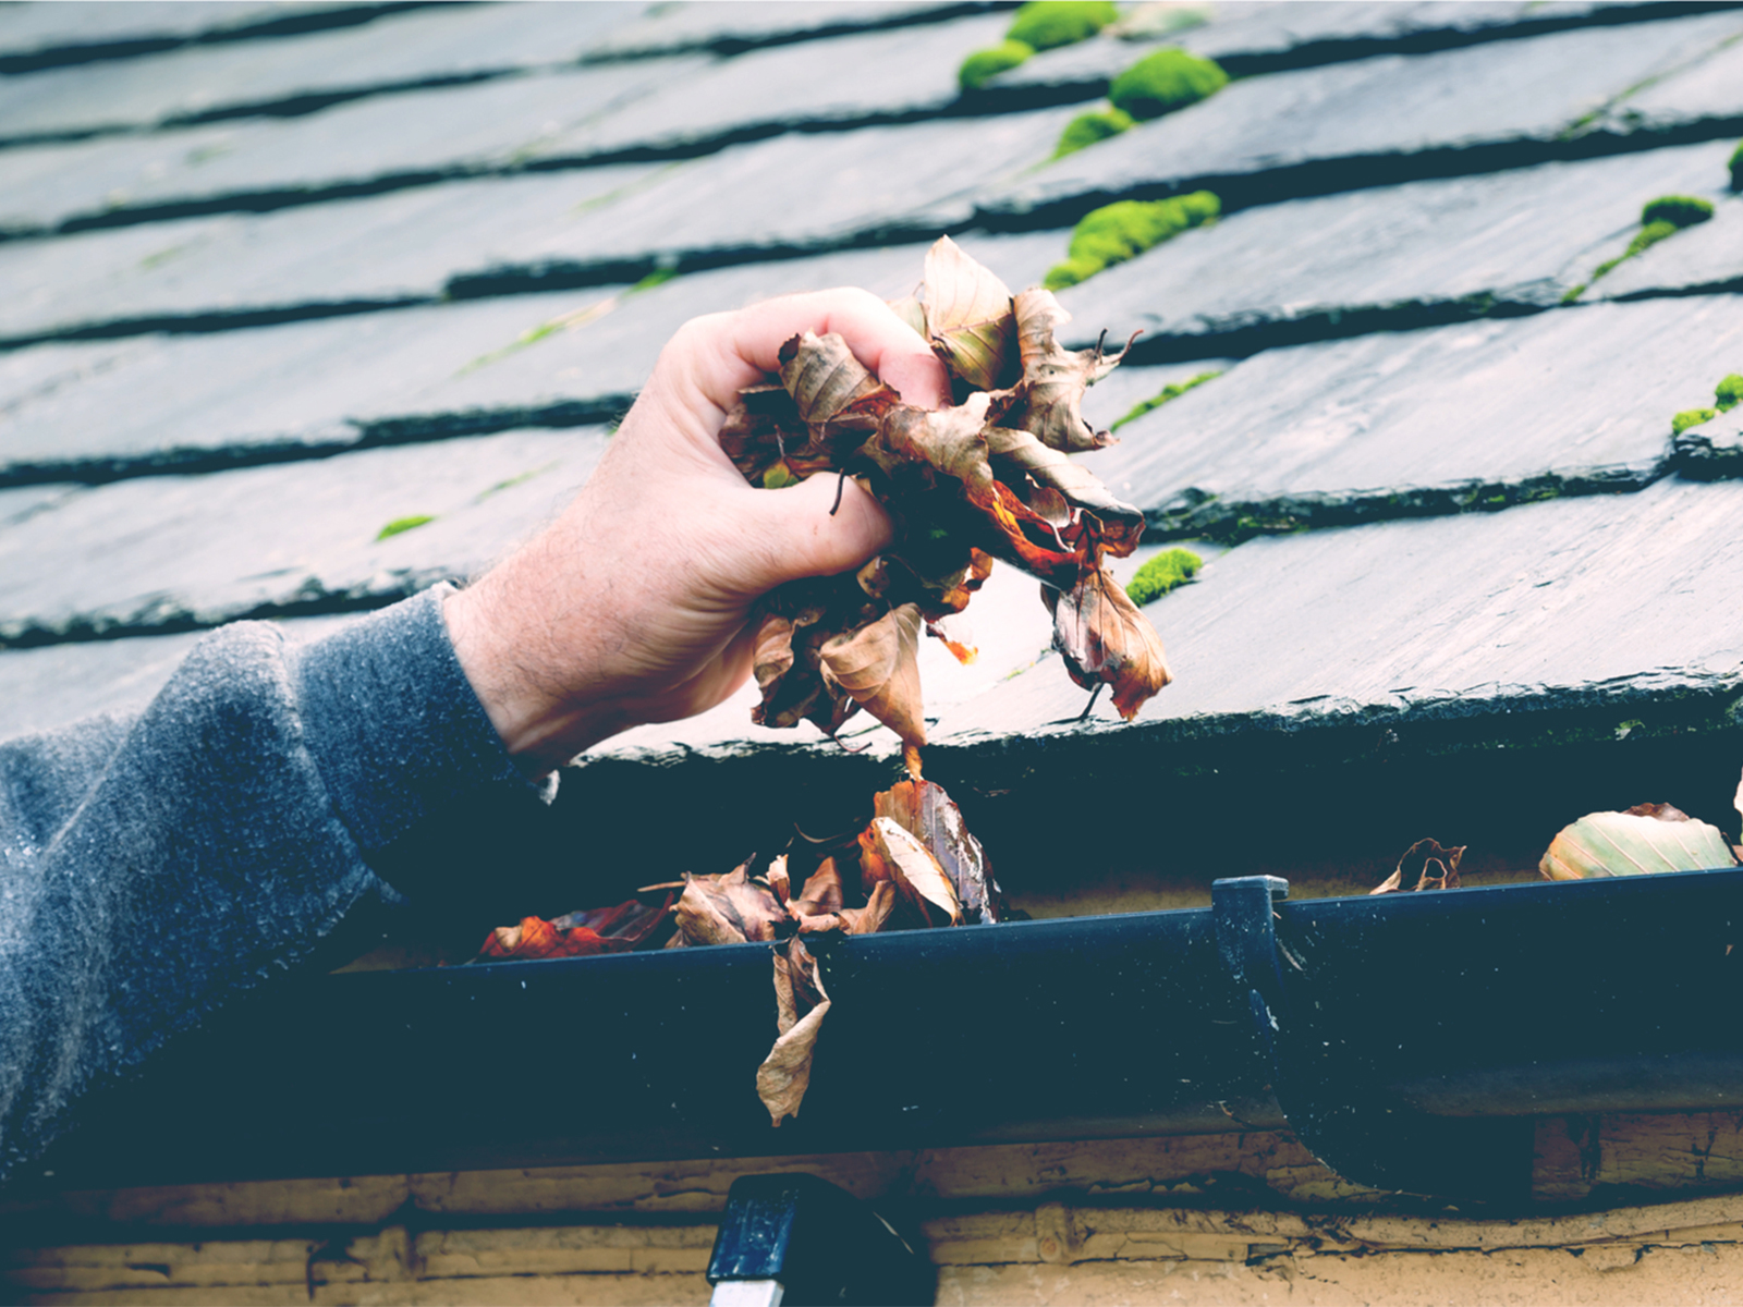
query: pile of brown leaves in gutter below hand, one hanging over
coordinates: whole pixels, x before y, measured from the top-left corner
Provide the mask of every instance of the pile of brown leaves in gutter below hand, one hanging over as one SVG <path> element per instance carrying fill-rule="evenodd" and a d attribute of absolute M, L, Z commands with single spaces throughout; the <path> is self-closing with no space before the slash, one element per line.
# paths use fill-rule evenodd
<path fill-rule="evenodd" d="M 682 892 L 675 897 L 675 891 Z M 492 931 L 479 955 L 539 958 L 770 945 L 779 1035 L 756 1072 L 756 1093 L 776 1126 L 798 1114 L 830 1012 L 807 939 L 994 924 L 1006 915 L 987 852 L 969 835 L 962 810 L 943 786 L 924 779 L 877 795 L 872 821 L 856 833 L 798 838 L 763 864 L 753 856 L 732 871 L 687 875 L 669 885 L 645 885 L 638 894 L 664 899 L 627 899 L 553 922 L 528 917 Z"/>

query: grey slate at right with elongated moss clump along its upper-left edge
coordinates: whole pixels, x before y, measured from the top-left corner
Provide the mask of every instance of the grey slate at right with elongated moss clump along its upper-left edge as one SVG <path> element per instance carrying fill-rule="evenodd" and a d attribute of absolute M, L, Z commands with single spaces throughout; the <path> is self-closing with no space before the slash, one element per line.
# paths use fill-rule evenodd
<path fill-rule="evenodd" d="M 1074 338 L 1103 326 L 1116 336 L 1142 329 L 1145 354 L 1218 347 L 1204 336 L 1253 349 L 1550 307 L 1626 247 L 1645 200 L 1666 192 L 1719 199 L 1729 150 L 1687 145 L 1265 204 L 1100 272 L 1060 300 L 1077 314 Z M 1651 265 L 1624 265 L 1626 282 L 1616 272 L 1600 288 L 1682 289 L 1712 263 L 1685 268 L 1649 254 Z"/>

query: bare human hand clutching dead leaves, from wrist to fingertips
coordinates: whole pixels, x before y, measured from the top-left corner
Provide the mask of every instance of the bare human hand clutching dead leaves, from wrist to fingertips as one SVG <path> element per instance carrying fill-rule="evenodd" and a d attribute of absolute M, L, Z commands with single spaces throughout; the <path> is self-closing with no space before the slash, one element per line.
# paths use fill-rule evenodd
<path fill-rule="evenodd" d="M 859 486 L 831 516 L 833 474 L 758 490 L 720 450 L 739 390 L 776 371 L 800 331 L 840 333 L 910 404 L 950 403 L 943 364 L 866 291 L 793 295 L 680 328 L 568 509 L 448 596 L 460 666 L 530 770 L 713 708 L 749 676 L 758 598 L 856 568 L 889 542 Z"/>

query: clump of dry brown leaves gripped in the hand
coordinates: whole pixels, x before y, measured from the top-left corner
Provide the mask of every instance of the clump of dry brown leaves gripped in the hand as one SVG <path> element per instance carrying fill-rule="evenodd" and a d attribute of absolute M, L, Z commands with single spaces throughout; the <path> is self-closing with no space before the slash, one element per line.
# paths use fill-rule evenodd
<path fill-rule="evenodd" d="M 905 404 L 838 335 L 807 331 L 783 345 L 779 376 L 744 390 L 720 432 L 753 484 L 852 476 L 896 525 L 891 547 L 858 575 L 795 582 L 765 599 L 753 718 L 809 720 L 835 735 L 865 708 L 901 735 L 917 772 L 920 634 L 971 659 L 950 622 L 1004 559 L 1042 582 L 1072 680 L 1112 685 L 1131 720 L 1168 683 L 1168 662 L 1103 558 L 1136 547 L 1143 514 L 1067 457 L 1110 443 L 1079 406 L 1119 357 L 1061 349 L 1055 331 L 1070 315 L 1051 291 L 1013 296 L 948 237 L 927 253 L 920 293 L 892 307 L 943 361 L 955 406 Z"/>

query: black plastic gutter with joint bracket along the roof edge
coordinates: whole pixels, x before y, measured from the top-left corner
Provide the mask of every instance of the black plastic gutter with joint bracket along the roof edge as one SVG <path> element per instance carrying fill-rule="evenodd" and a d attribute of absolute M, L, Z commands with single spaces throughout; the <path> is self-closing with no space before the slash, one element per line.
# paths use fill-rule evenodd
<path fill-rule="evenodd" d="M 769 950 L 321 976 L 239 1004 L 14 1188 L 1288 1126 L 1346 1178 L 1529 1190 L 1530 1117 L 1734 1105 L 1743 870 L 842 939 L 797 1122 Z"/>

